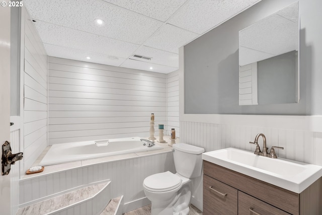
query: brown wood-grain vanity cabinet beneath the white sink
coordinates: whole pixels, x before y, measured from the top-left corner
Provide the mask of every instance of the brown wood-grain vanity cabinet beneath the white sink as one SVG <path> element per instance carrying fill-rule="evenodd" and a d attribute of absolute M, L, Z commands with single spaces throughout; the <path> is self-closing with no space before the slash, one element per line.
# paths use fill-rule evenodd
<path fill-rule="evenodd" d="M 203 161 L 203 214 L 322 214 L 322 178 L 295 193 Z"/>

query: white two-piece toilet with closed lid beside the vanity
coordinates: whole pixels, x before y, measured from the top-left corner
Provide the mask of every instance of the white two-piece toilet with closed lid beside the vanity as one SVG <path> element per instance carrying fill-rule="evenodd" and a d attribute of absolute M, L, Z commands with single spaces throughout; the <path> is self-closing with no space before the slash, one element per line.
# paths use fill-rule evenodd
<path fill-rule="evenodd" d="M 151 201 L 151 215 L 187 215 L 191 198 L 190 179 L 201 175 L 203 148 L 174 144 L 176 174 L 169 171 L 146 177 L 143 188 Z"/>

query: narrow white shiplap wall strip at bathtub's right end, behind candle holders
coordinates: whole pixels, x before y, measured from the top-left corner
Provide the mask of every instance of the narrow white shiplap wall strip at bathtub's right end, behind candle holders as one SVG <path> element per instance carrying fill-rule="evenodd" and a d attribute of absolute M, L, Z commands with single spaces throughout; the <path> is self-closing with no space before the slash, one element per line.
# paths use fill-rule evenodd
<path fill-rule="evenodd" d="M 176 129 L 176 136 L 180 137 L 179 122 L 179 70 L 167 75 L 167 134 L 171 135 L 171 128 Z"/>

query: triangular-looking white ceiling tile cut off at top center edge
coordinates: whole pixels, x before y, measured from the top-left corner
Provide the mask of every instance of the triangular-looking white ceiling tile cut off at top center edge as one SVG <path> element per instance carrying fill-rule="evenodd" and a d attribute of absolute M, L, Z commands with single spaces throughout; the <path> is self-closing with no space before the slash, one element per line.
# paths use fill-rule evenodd
<path fill-rule="evenodd" d="M 165 22 L 186 0 L 103 0 L 144 16 Z"/>

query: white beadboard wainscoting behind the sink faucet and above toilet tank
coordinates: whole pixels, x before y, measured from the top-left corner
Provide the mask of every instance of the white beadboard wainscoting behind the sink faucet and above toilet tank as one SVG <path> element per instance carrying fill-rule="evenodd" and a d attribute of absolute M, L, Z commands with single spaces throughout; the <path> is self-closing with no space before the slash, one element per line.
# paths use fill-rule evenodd
<path fill-rule="evenodd" d="M 322 157 L 318 154 L 318 149 L 322 148 L 320 132 L 187 121 L 181 121 L 180 127 L 183 142 L 202 147 L 206 152 L 227 147 L 254 151 L 255 145 L 249 142 L 254 141 L 258 133 L 264 133 L 269 149 L 284 147 L 284 150 L 276 150 L 278 157 L 322 166 Z M 259 145 L 262 148 L 261 138 Z"/>

